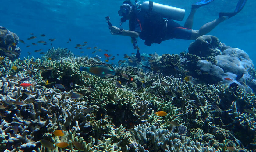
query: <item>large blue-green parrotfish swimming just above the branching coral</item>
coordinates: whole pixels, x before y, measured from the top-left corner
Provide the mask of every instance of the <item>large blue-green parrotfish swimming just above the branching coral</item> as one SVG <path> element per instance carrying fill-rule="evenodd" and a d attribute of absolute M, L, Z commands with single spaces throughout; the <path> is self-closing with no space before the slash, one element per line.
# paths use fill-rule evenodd
<path fill-rule="evenodd" d="M 115 71 L 109 67 L 103 65 L 95 65 L 92 67 L 80 67 L 80 71 L 86 71 L 91 75 L 95 75 L 97 77 L 104 78 L 107 74 L 114 75 Z"/>

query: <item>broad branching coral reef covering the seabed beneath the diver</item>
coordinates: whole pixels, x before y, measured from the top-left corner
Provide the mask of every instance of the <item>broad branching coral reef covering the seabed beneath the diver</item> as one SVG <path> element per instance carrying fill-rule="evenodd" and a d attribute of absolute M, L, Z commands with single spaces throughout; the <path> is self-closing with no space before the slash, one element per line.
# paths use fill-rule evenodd
<path fill-rule="evenodd" d="M 239 65 L 247 66 L 241 80 L 254 80 L 254 67 L 244 51 L 222 45 L 215 37 L 204 40 L 211 43 L 209 50 L 221 45 L 221 56 L 240 58 Z M 216 77 L 218 69 L 229 70 L 216 56 L 153 54 L 136 67 L 112 67 L 65 53 L 58 48 L 42 59 L 4 57 L 0 62 L 0 151 L 255 149 L 254 93 L 226 83 L 203 83 L 204 77 Z M 56 54 L 62 55 L 48 60 Z M 79 70 L 94 65 L 116 74 L 99 78 Z M 186 81 L 187 75 L 194 78 Z"/>

